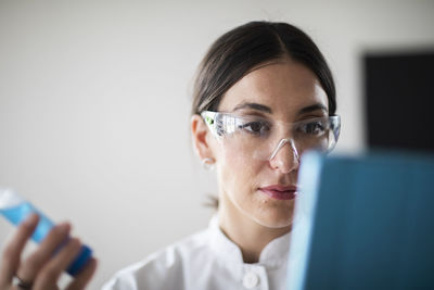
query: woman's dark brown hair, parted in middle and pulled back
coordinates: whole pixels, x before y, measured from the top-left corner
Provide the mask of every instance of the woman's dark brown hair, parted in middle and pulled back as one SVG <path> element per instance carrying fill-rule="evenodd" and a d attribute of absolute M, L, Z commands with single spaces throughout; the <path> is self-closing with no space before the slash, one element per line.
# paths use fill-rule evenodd
<path fill-rule="evenodd" d="M 224 34 L 209 48 L 194 83 L 192 114 L 217 111 L 225 93 L 255 66 L 290 56 L 318 77 L 336 111 L 332 73 L 324 56 L 304 31 L 288 23 L 250 22 Z"/>

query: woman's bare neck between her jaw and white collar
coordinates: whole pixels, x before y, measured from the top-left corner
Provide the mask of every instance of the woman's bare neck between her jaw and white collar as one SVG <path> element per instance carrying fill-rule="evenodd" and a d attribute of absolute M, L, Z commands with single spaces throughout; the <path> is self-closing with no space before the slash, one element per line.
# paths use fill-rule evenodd
<path fill-rule="evenodd" d="M 231 210 L 231 205 L 220 202 L 219 226 L 225 235 L 241 249 L 244 263 L 257 263 L 261 251 L 270 241 L 291 231 L 291 226 L 270 228 L 260 225 L 240 211 Z"/>

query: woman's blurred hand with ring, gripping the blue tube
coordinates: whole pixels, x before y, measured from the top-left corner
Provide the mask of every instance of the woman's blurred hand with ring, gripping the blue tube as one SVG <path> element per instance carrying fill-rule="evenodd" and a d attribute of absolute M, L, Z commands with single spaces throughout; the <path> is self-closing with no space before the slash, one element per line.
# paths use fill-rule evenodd
<path fill-rule="evenodd" d="M 0 262 L 0 290 L 59 290 L 59 278 L 79 253 L 80 241 L 76 238 L 67 240 L 71 225 L 64 223 L 53 227 L 38 249 L 21 262 L 23 249 L 38 225 L 38 220 L 39 217 L 36 214 L 27 217 L 5 245 Z M 65 240 L 67 240 L 66 244 L 64 244 Z M 62 245 L 61 250 L 53 255 L 60 245 Z M 97 261 L 92 257 L 66 289 L 85 289 L 95 268 Z M 15 285 L 14 277 L 18 278 L 24 286 Z"/>

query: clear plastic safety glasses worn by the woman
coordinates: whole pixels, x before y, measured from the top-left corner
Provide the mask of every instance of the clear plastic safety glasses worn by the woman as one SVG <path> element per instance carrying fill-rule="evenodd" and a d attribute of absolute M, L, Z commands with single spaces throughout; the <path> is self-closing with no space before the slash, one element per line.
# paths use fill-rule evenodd
<path fill-rule="evenodd" d="M 284 123 L 224 112 L 204 111 L 201 115 L 224 148 L 258 160 L 272 160 L 282 148 L 291 149 L 297 159 L 310 149 L 330 152 L 341 128 L 340 116 Z"/>

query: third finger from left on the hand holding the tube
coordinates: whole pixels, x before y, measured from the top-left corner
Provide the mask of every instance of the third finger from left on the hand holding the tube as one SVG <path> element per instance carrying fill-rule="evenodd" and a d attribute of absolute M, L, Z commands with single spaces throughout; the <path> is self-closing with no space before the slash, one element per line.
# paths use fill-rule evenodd
<path fill-rule="evenodd" d="M 55 285 L 61 274 L 73 263 L 80 250 L 80 241 L 76 238 L 69 239 L 66 245 L 38 273 L 35 280 L 35 289 L 48 289 Z"/>

